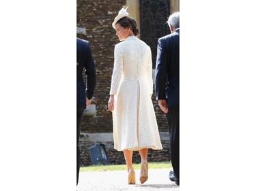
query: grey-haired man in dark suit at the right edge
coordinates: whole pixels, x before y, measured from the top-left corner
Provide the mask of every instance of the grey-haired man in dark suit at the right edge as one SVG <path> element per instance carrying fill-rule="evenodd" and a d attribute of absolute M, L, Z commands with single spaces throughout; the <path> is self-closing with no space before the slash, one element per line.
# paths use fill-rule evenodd
<path fill-rule="evenodd" d="M 169 179 L 180 185 L 180 12 L 169 16 L 171 34 L 158 39 L 156 100 L 169 127 L 171 164 Z"/>

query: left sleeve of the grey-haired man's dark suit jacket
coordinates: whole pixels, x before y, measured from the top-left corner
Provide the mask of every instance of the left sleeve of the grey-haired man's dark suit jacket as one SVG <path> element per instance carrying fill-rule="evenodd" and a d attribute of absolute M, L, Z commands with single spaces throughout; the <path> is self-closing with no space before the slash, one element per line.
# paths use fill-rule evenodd
<path fill-rule="evenodd" d="M 164 41 L 158 39 L 156 57 L 156 100 L 166 99 L 165 86 L 167 84 L 167 49 L 163 45 Z"/>

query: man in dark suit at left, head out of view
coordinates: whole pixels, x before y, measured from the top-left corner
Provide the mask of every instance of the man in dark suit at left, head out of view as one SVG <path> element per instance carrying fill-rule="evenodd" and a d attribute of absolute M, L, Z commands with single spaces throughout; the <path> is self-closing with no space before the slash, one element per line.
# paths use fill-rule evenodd
<path fill-rule="evenodd" d="M 83 72 L 87 76 L 86 86 Z M 79 136 L 83 110 L 91 104 L 96 86 L 96 66 L 91 54 L 89 42 L 76 38 L 76 185 L 79 183 L 80 150 Z"/>

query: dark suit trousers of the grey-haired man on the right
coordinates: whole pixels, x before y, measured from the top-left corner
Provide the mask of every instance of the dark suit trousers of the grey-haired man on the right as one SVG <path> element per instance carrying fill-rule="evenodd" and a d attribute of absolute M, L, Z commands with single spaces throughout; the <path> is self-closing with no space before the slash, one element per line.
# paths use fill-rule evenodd
<path fill-rule="evenodd" d="M 180 105 L 169 107 L 165 117 L 169 127 L 173 173 L 177 179 L 180 179 Z"/>

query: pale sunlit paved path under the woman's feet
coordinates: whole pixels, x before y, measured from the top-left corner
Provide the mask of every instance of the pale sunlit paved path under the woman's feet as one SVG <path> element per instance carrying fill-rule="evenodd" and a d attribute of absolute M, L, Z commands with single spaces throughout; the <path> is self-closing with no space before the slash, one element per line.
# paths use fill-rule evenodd
<path fill-rule="evenodd" d="M 170 169 L 149 169 L 149 178 L 144 184 L 139 181 L 139 169 L 134 170 L 136 184 L 128 184 L 127 171 L 81 172 L 78 191 L 119 191 L 119 190 L 168 190 L 179 191 L 180 187 L 169 180 Z"/>

